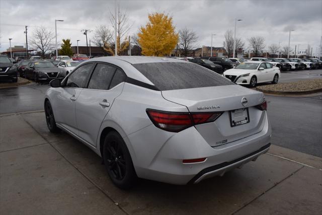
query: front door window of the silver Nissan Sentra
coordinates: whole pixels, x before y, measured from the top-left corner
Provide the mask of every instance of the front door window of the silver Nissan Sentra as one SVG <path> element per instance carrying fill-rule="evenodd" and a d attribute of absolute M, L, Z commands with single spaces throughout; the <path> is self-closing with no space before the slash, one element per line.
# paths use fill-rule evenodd
<path fill-rule="evenodd" d="M 93 63 L 78 67 L 67 79 L 66 87 L 84 88 L 87 77 L 92 71 Z"/>

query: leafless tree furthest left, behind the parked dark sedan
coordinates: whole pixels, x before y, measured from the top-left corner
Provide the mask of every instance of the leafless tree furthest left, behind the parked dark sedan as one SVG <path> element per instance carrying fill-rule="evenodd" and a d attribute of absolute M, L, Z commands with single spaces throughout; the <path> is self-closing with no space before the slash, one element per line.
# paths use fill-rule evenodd
<path fill-rule="evenodd" d="M 41 52 L 42 57 L 45 58 L 45 53 L 55 48 L 55 44 L 52 43 L 54 38 L 53 32 L 41 26 L 34 30 L 29 44 L 37 49 L 37 51 Z"/>

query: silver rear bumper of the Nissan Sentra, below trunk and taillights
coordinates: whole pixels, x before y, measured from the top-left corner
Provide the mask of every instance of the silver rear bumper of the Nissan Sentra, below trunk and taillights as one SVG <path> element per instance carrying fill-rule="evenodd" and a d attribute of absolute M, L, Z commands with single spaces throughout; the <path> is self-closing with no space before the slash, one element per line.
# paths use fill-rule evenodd
<path fill-rule="evenodd" d="M 127 139 L 133 147 L 133 164 L 138 177 L 183 185 L 223 175 L 266 153 L 271 139 L 266 112 L 263 123 L 260 132 L 217 147 L 211 147 L 195 127 L 165 136 L 171 132 L 165 133 L 152 124 L 130 134 Z M 148 142 L 143 145 L 145 141 Z M 138 145 L 144 147 L 137 148 Z M 183 163 L 185 159 L 197 158 L 206 160 Z"/>

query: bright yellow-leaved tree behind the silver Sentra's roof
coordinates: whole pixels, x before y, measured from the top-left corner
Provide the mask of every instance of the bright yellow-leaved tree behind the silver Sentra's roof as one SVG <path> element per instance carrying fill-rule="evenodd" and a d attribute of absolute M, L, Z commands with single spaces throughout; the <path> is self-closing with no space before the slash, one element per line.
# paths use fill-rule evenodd
<path fill-rule="evenodd" d="M 171 53 L 178 43 L 178 33 L 172 24 L 172 17 L 164 13 L 153 13 L 148 16 L 149 21 L 141 27 L 138 43 L 142 54 L 147 56 L 164 56 Z"/>

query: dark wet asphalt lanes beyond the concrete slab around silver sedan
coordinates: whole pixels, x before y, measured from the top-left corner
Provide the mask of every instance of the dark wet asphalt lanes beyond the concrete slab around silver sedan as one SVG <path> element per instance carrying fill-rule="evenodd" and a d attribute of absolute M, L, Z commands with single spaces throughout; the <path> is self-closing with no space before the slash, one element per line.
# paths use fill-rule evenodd
<path fill-rule="evenodd" d="M 322 78 L 322 69 L 282 73 L 280 83 Z M 0 114 L 43 110 L 49 84 L 0 89 Z M 266 95 L 272 124 L 272 144 L 322 157 L 322 94 Z"/>

